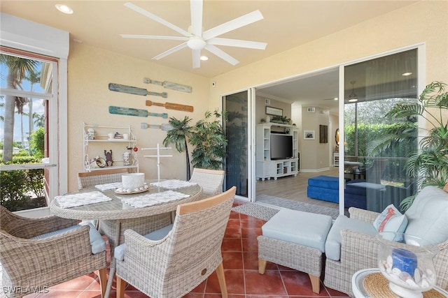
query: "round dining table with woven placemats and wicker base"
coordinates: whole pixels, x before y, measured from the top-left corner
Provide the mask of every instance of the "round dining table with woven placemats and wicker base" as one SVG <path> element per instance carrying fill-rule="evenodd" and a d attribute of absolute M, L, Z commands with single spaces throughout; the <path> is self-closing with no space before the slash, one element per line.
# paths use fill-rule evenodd
<path fill-rule="evenodd" d="M 202 195 L 202 187 L 197 184 L 190 184 L 188 181 L 183 181 L 183 183 L 179 181 L 181 187 L 175 186 L 176 180 L 146 180 L 145 182 L 148 190 L 141 193 L 118 193 L 116 188 L 102 189 L 101 186 L 94 186 L 66 193 L 57 197 L 57 200 L 56 198 L 52 200 L 50 204 L 50 211 L 56 216 L 83 221 L 99 221 L 99 232 L 107 237 L 111 248 L 111 269 L 106 287 L 106 297 L 109 297 L 116 269 L 113 249 L 124 242 L 125 230 L 132 229 L 139 234 L 148 234 L 165 227 L 172 223 L 174 219 L 173 211 L 176 211 L 177 205 L 199 200 Z M 151 197 L 157 197 L 157 195 L 171 194 L 169 191 L 175 192 L 182 198 L 174 197 L 174 199 L 166 202 L 151 202 L 151 205 L 144 207 L 134 207 L 128 203 L 133 199 L 143 198 L 146 200 L 147 198 L 151 200 Z M 61 204 L 64 197 L 69 198 L 73 195 L 80 197 L 83 194 L 87 196 L 92 193 L 100 193 L 103 198 L 107 197 L 107 201 L 76 207 L 66 207 Z"/>

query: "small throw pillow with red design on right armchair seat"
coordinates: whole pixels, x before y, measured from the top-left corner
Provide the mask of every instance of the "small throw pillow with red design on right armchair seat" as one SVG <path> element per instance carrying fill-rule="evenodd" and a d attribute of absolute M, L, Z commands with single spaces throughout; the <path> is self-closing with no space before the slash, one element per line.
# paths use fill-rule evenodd
<path fill-rule="evenodd" d="M 401 214 L 393 204 L 388 205 L 373 222 L 378 232 L 405 232 L 407 217 Z"/>

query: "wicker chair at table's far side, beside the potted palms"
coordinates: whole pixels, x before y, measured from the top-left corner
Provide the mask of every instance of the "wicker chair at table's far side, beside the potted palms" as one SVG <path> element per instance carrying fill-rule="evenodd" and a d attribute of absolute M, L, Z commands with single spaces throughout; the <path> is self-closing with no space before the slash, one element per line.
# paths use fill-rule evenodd
<path fill-rule="evenodd" d="M 209 198 L 223 192 L 224 173 L 223 170 L 207 170 L 195 167 L 190 182 L 202 187 L 202 198 Z"/>

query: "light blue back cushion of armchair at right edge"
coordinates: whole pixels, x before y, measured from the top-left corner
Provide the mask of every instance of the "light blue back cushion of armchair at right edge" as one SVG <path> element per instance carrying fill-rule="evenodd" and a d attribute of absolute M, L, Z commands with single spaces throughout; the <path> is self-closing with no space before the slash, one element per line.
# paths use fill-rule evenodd
<path fill-rule="evenodd" d="M 435 186 L 426 186 L 416 195 L 405 212 L 406 234 L 440 244 L 448 239 L 448 193 Z"/>

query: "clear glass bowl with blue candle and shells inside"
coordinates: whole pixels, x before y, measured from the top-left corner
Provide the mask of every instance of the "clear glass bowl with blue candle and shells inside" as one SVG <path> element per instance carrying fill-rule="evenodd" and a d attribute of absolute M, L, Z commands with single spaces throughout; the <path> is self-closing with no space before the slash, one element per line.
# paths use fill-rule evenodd
<path fill-rule="evenodd" d="M 419 298 L 432 289 L 436 276 L 434 244 L 409 234 L 380 232 L 378 267 L 389 281 L 389 289 L 400 297 Z"/>

